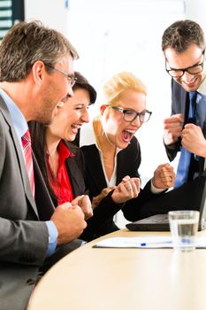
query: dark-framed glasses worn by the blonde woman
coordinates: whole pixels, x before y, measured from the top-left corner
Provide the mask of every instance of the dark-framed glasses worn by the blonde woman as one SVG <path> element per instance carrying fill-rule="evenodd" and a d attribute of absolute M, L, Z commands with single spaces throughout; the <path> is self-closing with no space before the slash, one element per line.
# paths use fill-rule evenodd
<path fill-rule="evenodd" d="M 146 121 L 150 119 L 150 116 L 152 114 L 152 112 L 148 110 L 136 112 L 132 109 L 123 109 L 119 106 L 113 106 L 113 105 L 109 105 L 109 106 L 111 107 L 111 109 L 121 112 L 123 114 L 123 120 L 126 120 L 126 121 L 134 121 L 137 117 L 139 117 L 139 120 L 141 121 L 141 123 L 146 123 Z"/>

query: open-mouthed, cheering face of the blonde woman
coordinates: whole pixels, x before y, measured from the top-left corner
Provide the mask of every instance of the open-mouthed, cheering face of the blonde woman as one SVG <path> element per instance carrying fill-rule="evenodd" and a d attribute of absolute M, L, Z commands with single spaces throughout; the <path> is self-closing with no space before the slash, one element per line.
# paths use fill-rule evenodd
<path fill-rule="evenodd" d="M 121 93 L 115 106 L 123 109 L 142 112 L 146 109 L 146 95 L 132 89 Z M 141 128 L 141 121 L 137 117 L 133 121 L 123 119 L 123 113 L 113 110 L 107 105 L 102 105 L 103 132 L 110 143 L 120 149 L 126 149 L 136 131 Z"/>

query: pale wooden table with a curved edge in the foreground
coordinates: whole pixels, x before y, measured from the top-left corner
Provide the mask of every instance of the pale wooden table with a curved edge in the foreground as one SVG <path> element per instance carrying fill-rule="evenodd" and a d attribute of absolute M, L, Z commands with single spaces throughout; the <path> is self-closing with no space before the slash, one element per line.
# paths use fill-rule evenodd
<path fill-rule="evenodd" d="M 106 237 L 168 234 L 123 229 Z M 206 309 L 206 250 L 92 248 L 96 240 L 42 277 L 28 310 Z"/>

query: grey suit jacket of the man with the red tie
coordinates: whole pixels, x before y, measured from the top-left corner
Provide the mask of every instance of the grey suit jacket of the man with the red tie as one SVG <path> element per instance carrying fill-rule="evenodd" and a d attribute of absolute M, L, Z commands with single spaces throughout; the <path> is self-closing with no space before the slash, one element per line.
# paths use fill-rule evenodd
<path fill-rule="evenodd" d="M 23 154 L 10 113 L 0 97 L 0 309 L 25 309 L 48 249 L 54 211 L 42 175 L 32 195 Z"/>

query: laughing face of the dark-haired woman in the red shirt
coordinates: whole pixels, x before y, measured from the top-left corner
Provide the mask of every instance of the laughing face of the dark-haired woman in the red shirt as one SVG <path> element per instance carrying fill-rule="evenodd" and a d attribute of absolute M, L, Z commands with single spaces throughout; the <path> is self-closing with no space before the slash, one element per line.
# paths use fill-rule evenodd
<path fill-rule="evenodd" d="M 88 105 L 90 97 L 87 89 L 75 89 L 73 97 L 66 100 L 58 109 L 57 115 L 48 127 L 48 132 L 53 139 L 73 141 L 78 129 L 88 122 Z"/>

